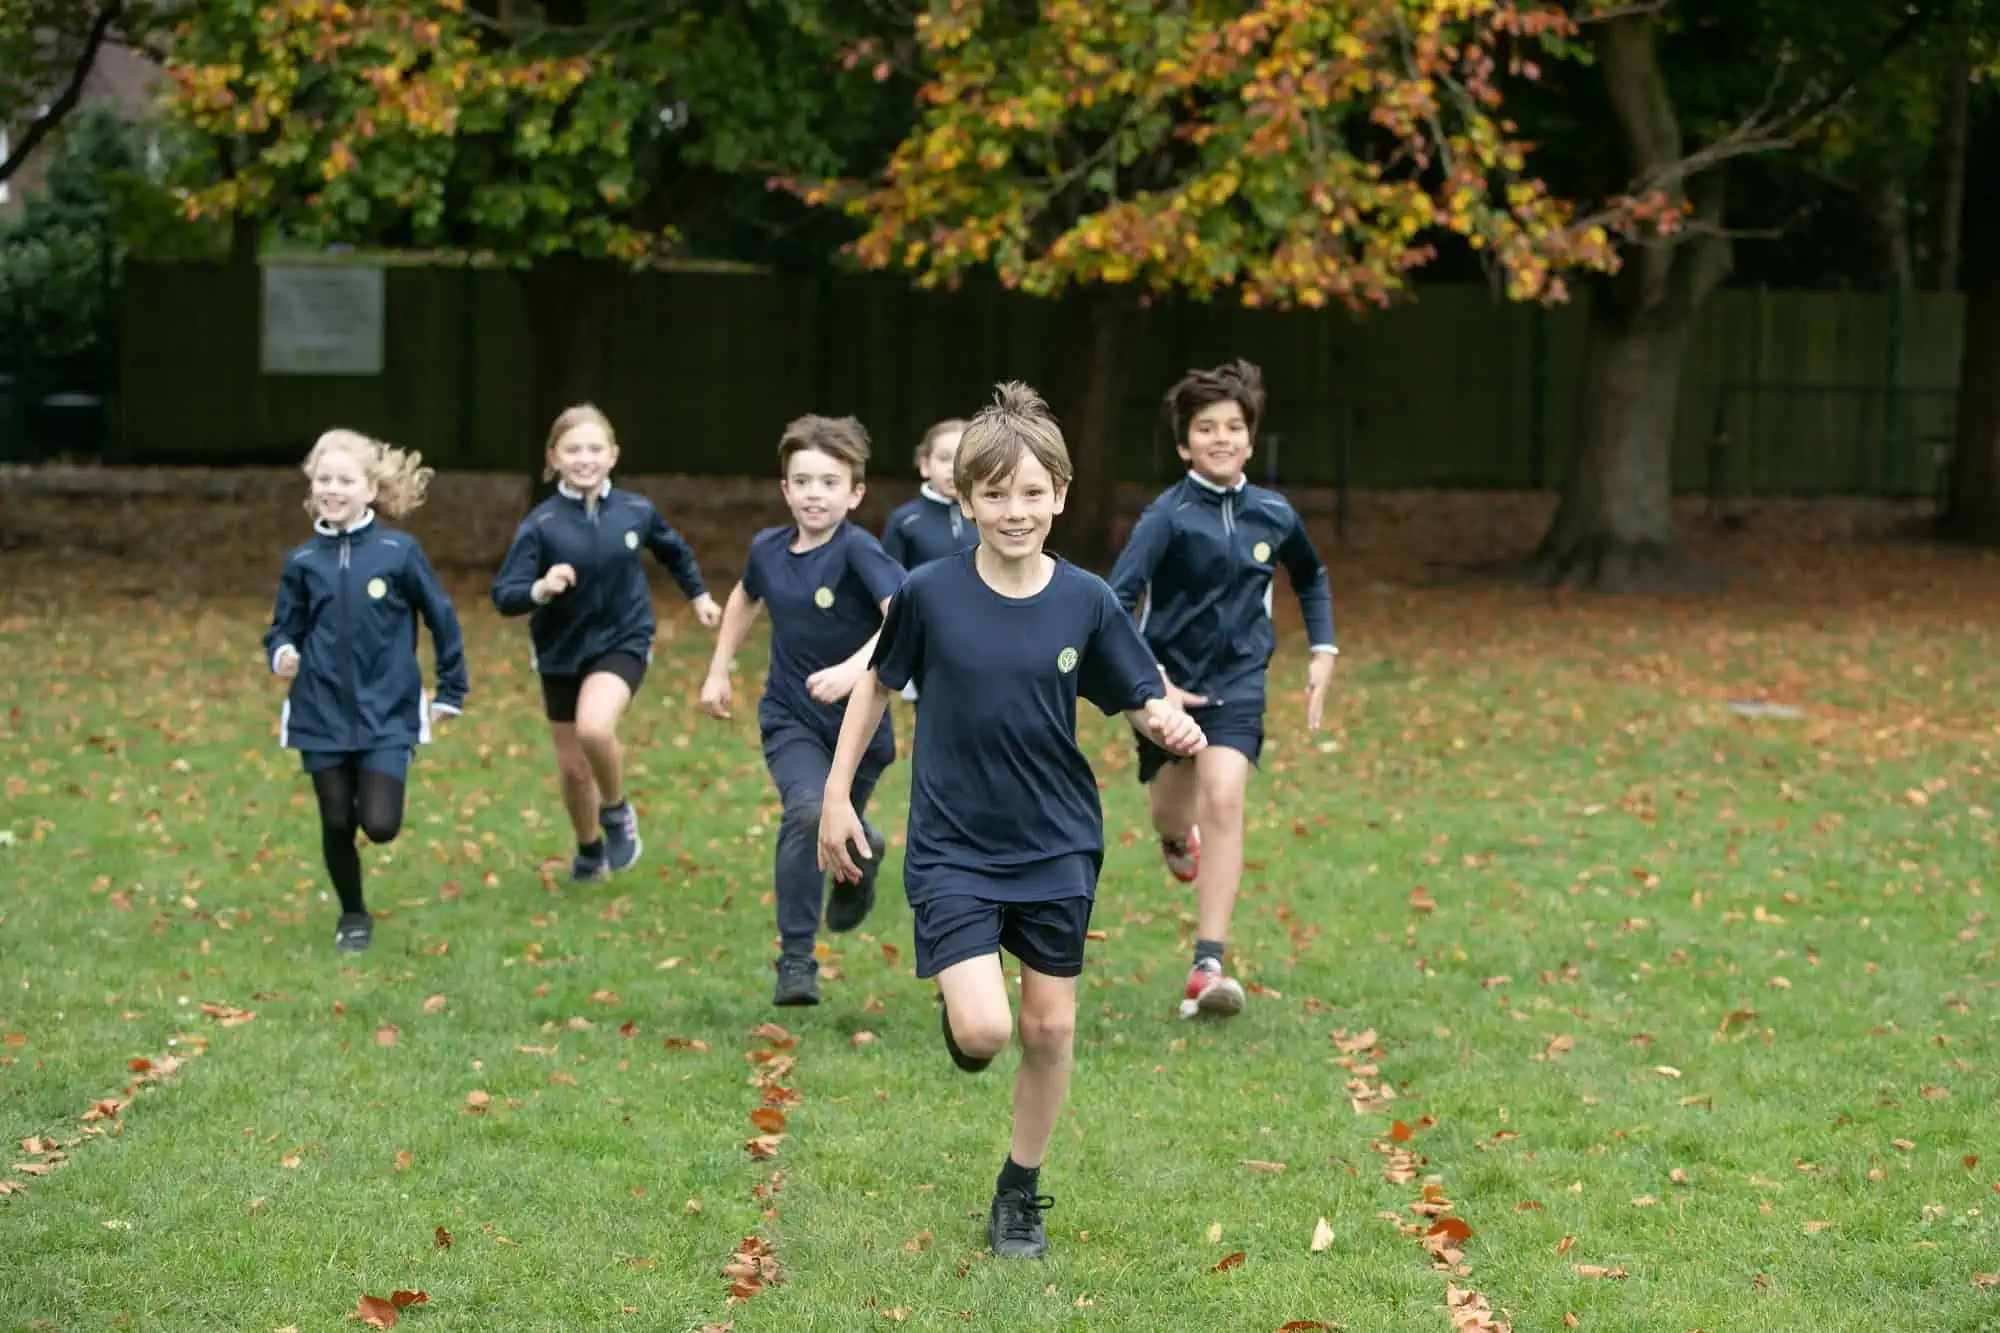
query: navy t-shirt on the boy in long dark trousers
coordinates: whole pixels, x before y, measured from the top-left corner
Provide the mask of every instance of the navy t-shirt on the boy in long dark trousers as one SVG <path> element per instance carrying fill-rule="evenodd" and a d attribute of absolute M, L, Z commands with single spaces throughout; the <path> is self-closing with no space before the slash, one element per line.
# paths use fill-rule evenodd
<path fill-rule="evenodd" d="M 750 538 L 744 592 L 770 614 L 770 671 L 758 703 L 758 727 L 808 729 L 828 749 L 840 739 L 846 701 L 822 705 L 806 693 L 806 677 L 836 666 L 882 628 L 882 600 L 902 586 L 902 566 L 868 530 L 842 522 L 812 550 L 792 550 L 798 526 L 764 528 Z M 882 733 L 888 739 L 888 715 Z M 894 749 L 892 749 L 894 753 Z"/>

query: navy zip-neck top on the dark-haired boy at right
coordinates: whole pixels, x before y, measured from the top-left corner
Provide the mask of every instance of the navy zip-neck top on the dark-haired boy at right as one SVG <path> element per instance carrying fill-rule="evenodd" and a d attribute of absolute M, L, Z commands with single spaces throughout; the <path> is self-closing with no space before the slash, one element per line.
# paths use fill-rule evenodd
<path fill-rule="evenodd" d="M 1298 512 L 1276 490 L 1190 472 L 1140 514 L 1110 584 L 1126 612 L 1146 600 L 1140 630 L 1174 685 L 1210 703 L 1262 701 L 1280 564 L 1314 650 L 1330 652 L 1334 596 Z"/>

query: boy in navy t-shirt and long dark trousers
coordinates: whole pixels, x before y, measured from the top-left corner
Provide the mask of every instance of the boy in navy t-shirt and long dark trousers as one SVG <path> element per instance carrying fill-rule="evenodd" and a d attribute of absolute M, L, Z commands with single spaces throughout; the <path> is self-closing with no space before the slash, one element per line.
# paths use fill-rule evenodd
<path fill-rule="evenodd" d="M 818 863 L 820 793 L 840 739 L 840 709 L 854 683 L 868 671 L 882 608 L 902 586 L 902 566 L 880 542 L 848 522 L 862 502 L 868 466 L 868 432 L 852 416 L 800 416 L 778 440 L 778 488 L 792 508 L 792 522 L 764 528 L 750 540 L 742 582 L 722 608 L 722 632 L 702 683 L 702 707 L 730 715 L 730 660 L 742 646 L 760 606 L 770 606 L 770 671 L 756 721 L 764 737 L 764 765 L 778 787 L 784 817 L 772 883 L 778 899 L 776 1005 L 818 1005 L 820 963 L 814 939 L 826 873 Z M 896 759 L 888 717 L 868 737 L 854 775 L 856 809 L 868 809 L 882 771 Z M 852 931 L 874 907 L 874 867 L 884 841 L 872 829 L 870 875 L 836 883 L 826 905 L 828 931 Z"/>

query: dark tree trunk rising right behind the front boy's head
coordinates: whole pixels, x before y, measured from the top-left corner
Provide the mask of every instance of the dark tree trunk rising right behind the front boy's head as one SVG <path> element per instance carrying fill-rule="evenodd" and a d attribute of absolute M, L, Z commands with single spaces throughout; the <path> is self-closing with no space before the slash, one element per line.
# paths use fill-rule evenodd
<path fill-rule="evenodd" d="M 1054 546 L 1076 564 L 1104 572 L 1116 554 L 1118 416 L 1128 372 L 1130 302 L 1118 288 L 1088 286 L 1070 300 L 1064 368 L 1050 406 L 1062 422 L 1076 476 Z"/>

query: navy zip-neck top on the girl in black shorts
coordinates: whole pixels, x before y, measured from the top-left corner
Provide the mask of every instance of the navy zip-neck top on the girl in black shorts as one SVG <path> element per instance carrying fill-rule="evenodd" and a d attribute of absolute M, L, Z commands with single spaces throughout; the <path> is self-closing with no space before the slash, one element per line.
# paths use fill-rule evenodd
<path fill-rule="evenodd" d="M 640 552 L 650 550 L 696 600 L 708 592 L 688 542 L 642 494 L 598 490 L 596 506 L 568 486 L 536 504 L 494 574 L 494 606 L 504 616 L 528 616 L 534 669 L 574 677 L 606 652 L 652 654 L 652 590 Z M 576 584 L 536 604 L 534 582 L 556 564 L 576 570 Z"/>

